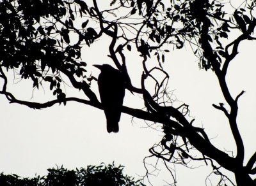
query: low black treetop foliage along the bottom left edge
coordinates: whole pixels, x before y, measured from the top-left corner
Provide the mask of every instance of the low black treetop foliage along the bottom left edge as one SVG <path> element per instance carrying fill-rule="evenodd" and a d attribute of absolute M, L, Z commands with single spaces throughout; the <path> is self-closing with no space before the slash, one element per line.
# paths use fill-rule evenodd
<path fill-rule="evenodd" d="M 17 175 L 0 174 L 0 185 L 3 186 L 143 186 L 140 180 L 134 180 L 131 176 L 123 175 L 123 166 L 87 166 L 86 169 L 68 170 L 63 168 L 47 169 L 48 175 L 35 178 L 20 178 Z M 145 186 L 145 185 L 144 185 Z"/>

